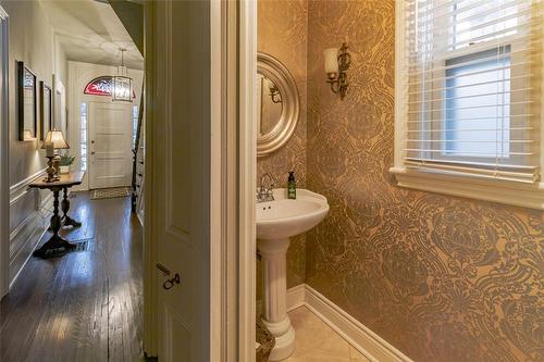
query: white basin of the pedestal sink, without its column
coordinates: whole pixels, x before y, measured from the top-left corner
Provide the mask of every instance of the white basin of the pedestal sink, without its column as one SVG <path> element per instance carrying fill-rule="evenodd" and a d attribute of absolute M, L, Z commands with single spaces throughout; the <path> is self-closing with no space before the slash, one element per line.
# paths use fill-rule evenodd
<path fill-rule="evenodd" d="M 308 232 L 329 212 L 326 198 L 297 189 L 296 200 L 287 199 L 284 188 L 275 188 L 274 201 L 256 203 L 257 238 L 283 239 Z"/>

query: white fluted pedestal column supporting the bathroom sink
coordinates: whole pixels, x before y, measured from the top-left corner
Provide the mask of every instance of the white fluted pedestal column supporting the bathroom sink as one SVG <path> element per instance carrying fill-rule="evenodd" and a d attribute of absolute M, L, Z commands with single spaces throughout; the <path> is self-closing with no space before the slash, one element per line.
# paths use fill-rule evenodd
<path fill-rule="evenodd" d="M 262 263 L 262 322 L 275 337 L 270 361 L 280 361 L 295 351 L 295 329 L 287 315 L 286 254 L 289 239 L 259 239 L 257 248 Z"/>

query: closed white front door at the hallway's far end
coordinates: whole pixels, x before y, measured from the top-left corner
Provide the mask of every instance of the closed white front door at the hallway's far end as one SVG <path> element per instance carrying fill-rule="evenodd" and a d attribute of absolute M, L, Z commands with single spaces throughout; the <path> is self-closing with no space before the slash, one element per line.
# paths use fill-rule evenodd
<path fill-rule="evenodd" d="M 132 103 L 89 102 L 89 188 L 129 186 Z"/>

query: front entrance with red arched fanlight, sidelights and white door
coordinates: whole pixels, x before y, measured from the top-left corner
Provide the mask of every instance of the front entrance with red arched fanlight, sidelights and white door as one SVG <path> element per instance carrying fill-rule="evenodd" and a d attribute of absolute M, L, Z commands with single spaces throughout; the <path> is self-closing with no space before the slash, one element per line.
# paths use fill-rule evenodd
<path fill-rule="evenodd" d="M 75 115 L 69 117 L 71 153 L 78 160 L 75 166 L 86 172 L 81 189 L 132 186 L 134 152 L 138 151 L 138 162 L 145 154 L 141 137 L 136 145 L 143 70 L 127 68 L 133 79 L 132 100 L 113 101 L 115 66 L 79 61 L 69 61 L 67 65 L 69 114 Z M 144 174 L 140 170 L 136 173 Z M 138 185 L 140 178 L 136 178 Z"/>

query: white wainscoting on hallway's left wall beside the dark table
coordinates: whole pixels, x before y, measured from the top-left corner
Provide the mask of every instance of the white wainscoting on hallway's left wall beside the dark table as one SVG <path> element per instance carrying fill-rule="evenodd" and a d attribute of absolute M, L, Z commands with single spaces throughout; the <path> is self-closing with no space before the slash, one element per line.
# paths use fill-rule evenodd
<path fill-rule="evenodd" d="M 28 189 L 28 184 L 44 175 L 45 171 L 39 171 L 10 187 L 10 286 L 49 225 L 52 194 Z"/>

